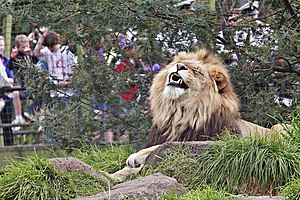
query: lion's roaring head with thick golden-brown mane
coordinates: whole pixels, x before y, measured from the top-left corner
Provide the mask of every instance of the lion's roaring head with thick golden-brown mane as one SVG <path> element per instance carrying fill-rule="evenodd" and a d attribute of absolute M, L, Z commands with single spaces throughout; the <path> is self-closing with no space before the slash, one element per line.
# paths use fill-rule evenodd
<path fill-rule="evenodd" d="M 180 53 L 153 80 L 147 146 L 236 130 L 240 103 L 226 67 L 206 50 Z"/>

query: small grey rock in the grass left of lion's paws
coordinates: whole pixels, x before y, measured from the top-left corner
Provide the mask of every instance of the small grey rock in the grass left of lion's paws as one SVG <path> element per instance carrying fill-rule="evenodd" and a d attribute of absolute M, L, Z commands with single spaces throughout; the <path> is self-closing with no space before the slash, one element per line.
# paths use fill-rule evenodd
<path fill-rule="evenodd" d="M 65 157 L 65 158 L 51 158 L 49 159 L 50 163 L 54 166 L 54 168 L 58 171 L 75 171 L 75 172 L 86 172 L 92 174 L 103 181 L 105 181 L 108 185 L 112 186 L 111 181 L 100 172 L 93 169 L 88 164 L 78 160 L 74 157 Z"/>

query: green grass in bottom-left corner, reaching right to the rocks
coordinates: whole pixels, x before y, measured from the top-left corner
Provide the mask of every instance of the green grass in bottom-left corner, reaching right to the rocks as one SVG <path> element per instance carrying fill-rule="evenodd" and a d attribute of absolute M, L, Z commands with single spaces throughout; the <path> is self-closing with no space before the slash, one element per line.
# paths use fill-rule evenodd
<path fill-rule="evenodd" d="M 1 199 L 71 199 L 106 191 L 107 184 L 92 175 L 58 172 L 42 156 L 12 161 L 0 176 Z"/>

